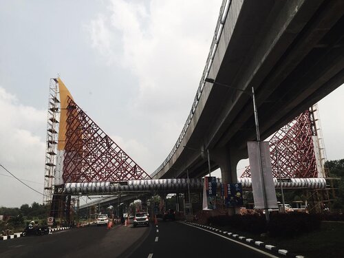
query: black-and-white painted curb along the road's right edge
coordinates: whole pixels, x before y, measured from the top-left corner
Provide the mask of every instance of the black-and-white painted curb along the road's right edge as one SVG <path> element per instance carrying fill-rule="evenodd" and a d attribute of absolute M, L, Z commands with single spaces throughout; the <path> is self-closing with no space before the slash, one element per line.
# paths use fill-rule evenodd
<path fill-rule="evenodd" d="M 193 223 L 193 222 L 184 222 L 184 223 L 190 224 L 192 226 L 204 228 L 206 230 L 213 231 L 213 232 L 221 234 L 221 235 L 225 235 L 226 237 L 235 238 L 235 240 L 237 240 L 237 241 L 241 240 L 241 241 L 245 242 L 246 244 L 248 243 L 248 244 L 251 244 L 252 246 L 255 246 L 255 247 L 259 246 L 260 248 L 269 250 L 270 252 L 278 254 L 278 255 L 284 255 L 286 257 L 304 258 L 302 255 L 296 255 L 292 252 L 289 252 L 288 250 L 279 249 L 276 246 L 272 246 L 270 244 L 265 244 L 262 241 L 255 241 L 254 239 L 246 238 L 244 236 L 237 235 L 237 234 L 232 233 L 232 232 L 227 232 L 227 231 L 222 232 L 222 230 L 219 230 L 217 228 L 213 228 L 211 226 L 205 226 L 205 225 L 197 224 L 197 223 Z"/>

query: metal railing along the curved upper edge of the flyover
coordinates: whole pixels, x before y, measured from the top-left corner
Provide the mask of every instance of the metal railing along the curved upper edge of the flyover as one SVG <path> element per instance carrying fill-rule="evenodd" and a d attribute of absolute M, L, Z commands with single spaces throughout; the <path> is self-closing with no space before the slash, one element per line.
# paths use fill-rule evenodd
<path fill-rule="evenodd" d="M 169 160 L 171 160 L 175 151 L 177 151 L 178 147 L 180 146 L 180 143 L 182 142 L 182 140 L 186 134 L 187 129 L 189 128 L 191 120 L 193 119 L 193 114 L 195 114 L 195 110 L 196 110 L 197 105 L 199 103 L 199 100 L 202 96 L 202 92 L 203 92 L 204 85 L 205 85 L 204 79 L 208 77 L 209 71 L 211 69 L 211 65 L 213 64 L 213 59 L 214 59 L 214 56 L 215 56 L 215 53 L 217 50 L 217 45 L 219 44 L 219 39 L 220 39 L 222 31 L 224 29 L 224 23 L 226 21 L 228 10 L 231 6 L 231 3 L 232 3 L 232 0 L 223 0 L 222 1 L 222 6 L 221 6 L 220 11 L 219 11 L 219 18 L 217 19 L 217 24 L 216 24 L 216 28 L 215 28 L 213 41 L 211 43 L 211 49 L 209 51 L 208 58 L 206 59 L 206 66 L 204 67 L 202 78 L 200 80 L 200 85 L 198 86 L 195 99 L 193 100 L 193 105 L 191 107 L 190 114 L 189 114 L 188 118 L 186 119 L 186 122 L 185 122 L 183 129 L 182 129 L 182 132 L 180 133 L 180 136 L 178 137 L 177 142 L 175 142 L 175 145 L 174 145 L 172 151 L 169 153 L 169 155 L 164 160 L 164 162 L 158 167 L 158 169 L 156 169 L 151 174 L 152 178 L 156 174 L 158 174 L 164 168 L 164 166 L 166 166 L 166 164 L 169 162 Z"/>

